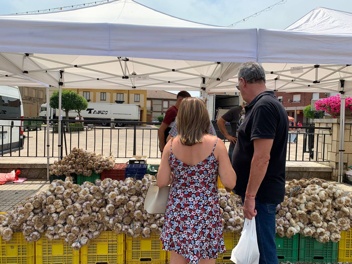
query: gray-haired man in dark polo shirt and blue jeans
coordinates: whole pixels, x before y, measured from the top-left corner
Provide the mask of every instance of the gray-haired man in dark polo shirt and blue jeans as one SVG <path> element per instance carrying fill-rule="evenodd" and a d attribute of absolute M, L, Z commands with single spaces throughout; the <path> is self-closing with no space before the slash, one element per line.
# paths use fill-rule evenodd
<path fill-rule="evenodd" d="M 237 175 L 234 191 L 242 197 L 245 217 L 256 218 L 259 264 L 277 264 L 275 212 L 285 195 L 288 117 L 274 92 L 266 90 L 260 64 L 243 63 L 238 81 L 249 105 L 232 156 Z"/>

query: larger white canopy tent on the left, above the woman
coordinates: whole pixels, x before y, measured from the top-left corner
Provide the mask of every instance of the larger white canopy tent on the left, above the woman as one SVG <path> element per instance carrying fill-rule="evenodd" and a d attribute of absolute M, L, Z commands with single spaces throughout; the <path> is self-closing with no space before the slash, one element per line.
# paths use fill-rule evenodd
<path fill-rule="evenodd" d="M 195 23 L 133 0 L 0 15 L 0 24 L 0 84 L 48 87 L 47 103 L 58 87 L 59 106 L 62 87 L 233 90 L 239 63 L 257 59 L 257 29 Z"/>

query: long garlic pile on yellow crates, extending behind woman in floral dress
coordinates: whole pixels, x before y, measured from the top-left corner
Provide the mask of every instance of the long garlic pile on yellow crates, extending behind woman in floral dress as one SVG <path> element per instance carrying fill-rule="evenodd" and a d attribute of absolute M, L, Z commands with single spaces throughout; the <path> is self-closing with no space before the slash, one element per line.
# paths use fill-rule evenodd
<path fill-rule="evenodd" d="M 44 234 L 49 240 L 64 239 L 75 250 L 102 231 L 134 238 L 160 235 L 164 215 L 144 210 L 144 198 L 153 180 L 153 175 L 142 180 L 107 178 L 82 185 L 74 184 L 71 177 L 55 180 L 46 192 L 27 197 L 11 212 L 0 215 L 0 235 L 9 241 L 14 232 L 21 231 L 26 241 L 33 242 Z M 240 231 L 244 218 L 241 200 L 225 189 L 218 195 L 224 232 Z"/>

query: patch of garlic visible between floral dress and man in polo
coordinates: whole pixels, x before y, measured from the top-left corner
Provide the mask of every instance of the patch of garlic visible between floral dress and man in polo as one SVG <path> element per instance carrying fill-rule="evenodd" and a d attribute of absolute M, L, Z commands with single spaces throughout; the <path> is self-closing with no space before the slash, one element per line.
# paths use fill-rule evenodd
<path fill-rule="evenodd" d="M 244 222 L 242 201 L 235 194 L 227 193 L 225 189 L 218 190 L 219 205 L 224 233 L 241 232 Z"/>

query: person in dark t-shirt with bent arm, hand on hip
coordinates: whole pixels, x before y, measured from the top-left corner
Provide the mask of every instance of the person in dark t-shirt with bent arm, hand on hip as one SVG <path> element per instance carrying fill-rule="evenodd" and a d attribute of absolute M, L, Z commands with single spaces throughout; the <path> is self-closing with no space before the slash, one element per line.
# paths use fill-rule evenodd
<path fill-rule="evenodd" d="M 239 126 L 238 121 L 241 120 L 242 114 L 241 112 L 244 110 L 244 107 L 247 105 L 245 101 L 242 102 L 242 105 L 232 107 L 229 111 L 227 111 L 219 120 L 216 122 L 218 124 L 219 130 L 224 135 L 224 137 L 230 141 L 230 146 L 228 147 L 228 157 L 232 162 L 232 153 L 235 148 L 235 144 L 237 141 L 237 128 Z M 231 136 L 228 134 L 225 123 L 229 122 L 231 125 Z"/>

